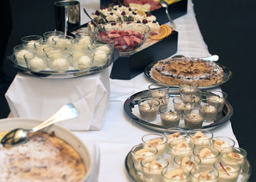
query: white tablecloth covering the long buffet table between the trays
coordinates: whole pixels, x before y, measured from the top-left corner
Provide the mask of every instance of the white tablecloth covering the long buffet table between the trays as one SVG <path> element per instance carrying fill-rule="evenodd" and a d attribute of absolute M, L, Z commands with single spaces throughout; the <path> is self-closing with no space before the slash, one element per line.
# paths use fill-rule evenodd
<path fill-rule="evenodd" d="M 81 0 L 81 9 L 88 9 L 89 13 L 99 9 L 99 2 Z M 82 24 L 89 21 L 81 13 Z M 179 32 L 178 52 L 176 55 L 204 57 L 210 56 L 207 45 L 198 28 L 193 11 L 192 0 L 188 1 L 187 14 L 174 20 Z M 217 53 L 216 53 L 217 54 Z M 109 73 L 111 67 L 109 68 Z M 17 75 L 20 77 L 21 75 Z M 94 172 L 91 181 L 129 181 L 125 172 L 125 157 L 134 145 L 142 143 L 141 138 L 151 133 L 143 126 L 138 126 L 123 109 L 125 100 L 138 91 L 147 90 L 152 84 L 141 73 L 131 80 L 110 79 L 110 97 L 107 115 L 102 129 L 99 131 L 73 132 L 88 145 L 94 160 Z M 216 87 L 215 90 L 221 90 Z M 228 93 L 229 94 L 229 93 Z M 229 98 L 228 98 L 229 100 Z M 215 136 L 226 136 L 237 140 L 232 131 L 230 121 L 212 131 Z"/>

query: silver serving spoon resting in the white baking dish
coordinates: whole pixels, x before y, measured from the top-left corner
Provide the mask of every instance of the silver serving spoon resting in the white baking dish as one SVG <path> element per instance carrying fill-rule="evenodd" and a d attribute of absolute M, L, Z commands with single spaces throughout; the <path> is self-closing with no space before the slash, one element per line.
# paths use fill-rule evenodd
<path fill-rule="evenodd" d="M 41 122 L 40 125 L 35 126 L 30 130 L 16 128 L 15 130 L 8 132 L 2 138 L 1 144 L 3 144 L 3 146 L 12 146 L 15 144 L 21 144 L 21 142 L 24 142 L 27 140 L 27 136 L 30 132 L 37 132 L 42 128 L 45 128 L 46 126 L 51 126 L 52 124 L 57 123 L 59 121 L 75 118 L 77 115 L 78 115 L 78 111 L 75 108 L 75 106 L 71 103 L 67 103 L 63 107 L 58 109 L 58 111 L 55 114 L 53 114 L 50 118 Z"/>

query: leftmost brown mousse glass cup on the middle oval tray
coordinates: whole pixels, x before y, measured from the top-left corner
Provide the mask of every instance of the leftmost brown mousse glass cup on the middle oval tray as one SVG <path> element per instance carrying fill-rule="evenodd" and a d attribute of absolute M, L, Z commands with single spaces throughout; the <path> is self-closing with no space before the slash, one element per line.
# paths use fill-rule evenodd
<path fill-rule="evenodd" d="M 138 109 L 141 119 L 154 121 L 159 110 L 159 101 L 155 98 L 144 98 L 138 102 Z"/>

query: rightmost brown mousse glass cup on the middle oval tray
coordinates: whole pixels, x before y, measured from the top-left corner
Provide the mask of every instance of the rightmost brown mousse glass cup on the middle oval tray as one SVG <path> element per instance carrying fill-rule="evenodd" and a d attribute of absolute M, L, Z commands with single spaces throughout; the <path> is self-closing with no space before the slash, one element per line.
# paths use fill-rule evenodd
<path fill-rule="evenodd" d="M 210 91 L 206 93 L 206 98 L 210 105 L 218 107 L 218 113 L 220 113 L 227 101 L 228 94 L 224 91 Z"/>

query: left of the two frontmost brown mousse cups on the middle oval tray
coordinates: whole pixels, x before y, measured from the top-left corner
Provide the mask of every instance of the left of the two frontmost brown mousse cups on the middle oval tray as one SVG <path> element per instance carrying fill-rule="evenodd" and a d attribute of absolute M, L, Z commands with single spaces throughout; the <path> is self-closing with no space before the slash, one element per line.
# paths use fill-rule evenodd
<path fill-rule="evenodd" d="M 159 109 L 162 126 L 178 127 L 180 124 L 181 111 L 174 111 L 173 107 L 169 104 L 167 108 Z"/>

